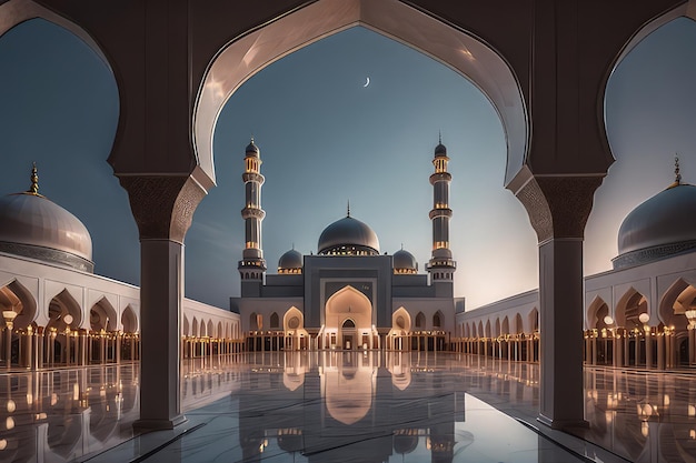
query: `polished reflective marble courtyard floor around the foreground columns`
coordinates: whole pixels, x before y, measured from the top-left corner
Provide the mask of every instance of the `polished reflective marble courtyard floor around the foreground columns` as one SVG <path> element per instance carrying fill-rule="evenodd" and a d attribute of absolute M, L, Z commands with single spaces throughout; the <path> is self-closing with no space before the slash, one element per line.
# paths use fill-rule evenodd
<path fill-rule="evenodd" d="M 250 353 L 182 373 L 188 421 L 140 436 L 137 364 L 0 373 L 0 462 L 696 462 L 688 372 L 586 369 L 571 434 L 536 422 L 535 364 Z"/>

